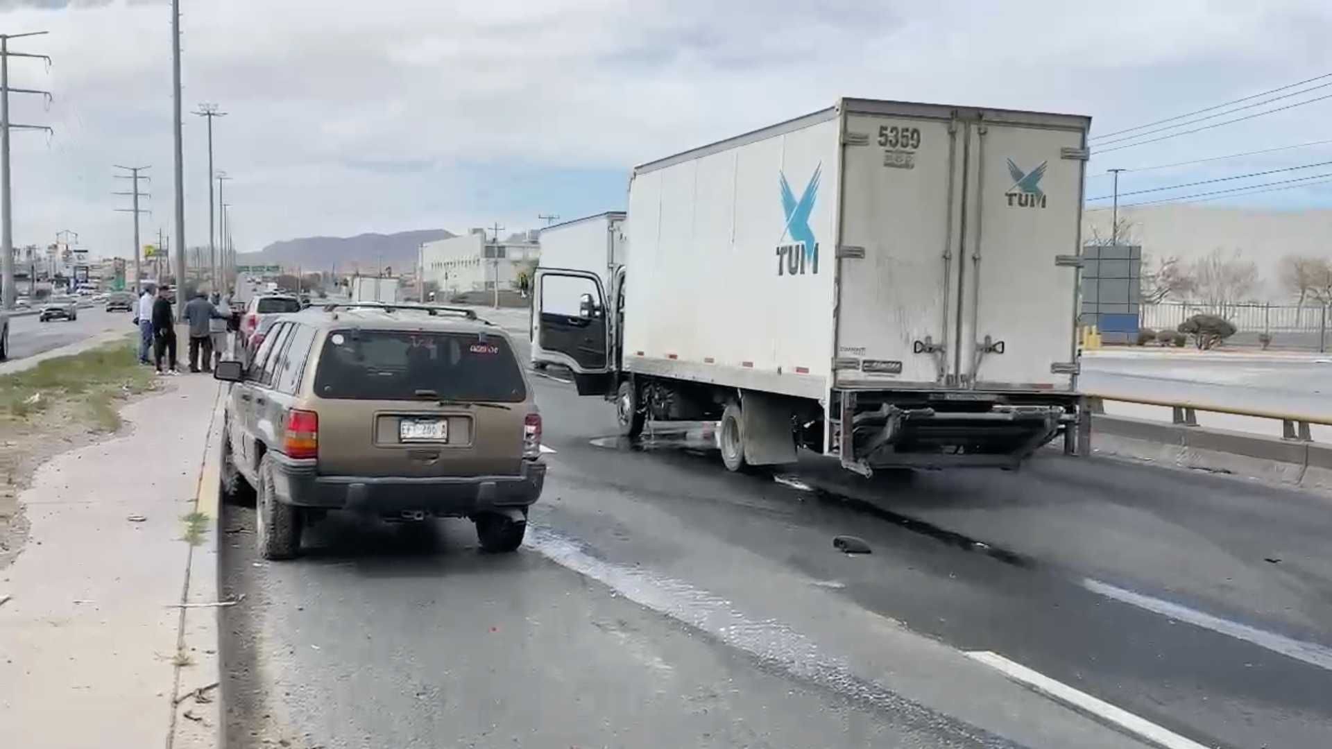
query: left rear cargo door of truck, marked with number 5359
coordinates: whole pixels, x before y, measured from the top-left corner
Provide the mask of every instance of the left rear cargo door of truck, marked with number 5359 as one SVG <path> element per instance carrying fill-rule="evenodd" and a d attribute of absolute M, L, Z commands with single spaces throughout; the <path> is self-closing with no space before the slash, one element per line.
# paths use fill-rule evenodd
<path fill-rule="evenodd" d="M 919 112 L 852 112 L 843 141 L 836 384 L 942 385 L 960 223 L 959 127 Z"/>

